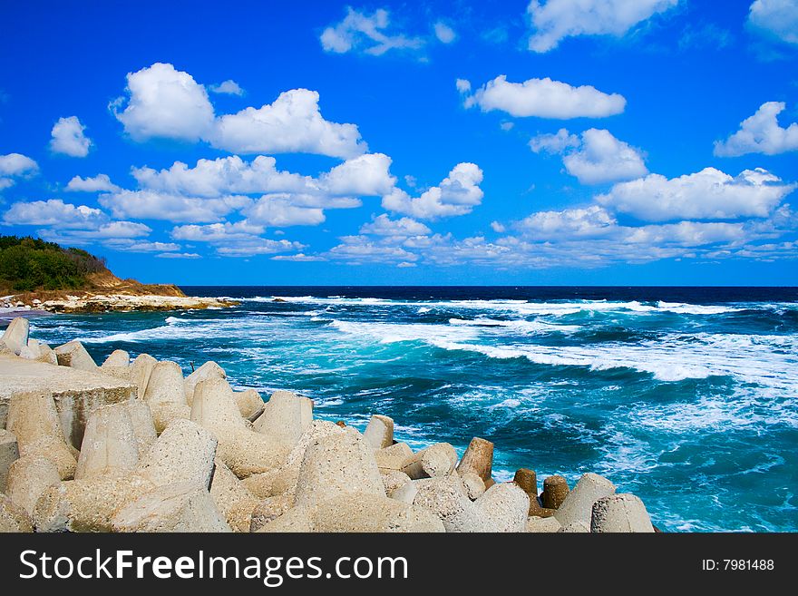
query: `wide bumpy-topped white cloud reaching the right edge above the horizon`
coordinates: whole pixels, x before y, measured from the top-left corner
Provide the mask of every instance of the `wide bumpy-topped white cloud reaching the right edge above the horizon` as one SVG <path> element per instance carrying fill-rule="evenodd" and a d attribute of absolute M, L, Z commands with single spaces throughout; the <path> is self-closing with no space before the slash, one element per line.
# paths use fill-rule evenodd
<path fill-rule="evenodd" d="M 645 221 L 764 218 L 795 186 L 783 184 L 761 168 L 745 170 L 735 178 L 706 168 L 672 179 L 649 174 L 635 181 L 619 182 L 596 200 Z"/>

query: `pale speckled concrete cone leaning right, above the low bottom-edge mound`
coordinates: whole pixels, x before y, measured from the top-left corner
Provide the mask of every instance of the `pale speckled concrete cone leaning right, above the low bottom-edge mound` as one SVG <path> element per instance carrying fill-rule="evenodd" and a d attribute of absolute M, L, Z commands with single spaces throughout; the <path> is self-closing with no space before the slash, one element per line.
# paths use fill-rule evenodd
<path fill-rule="evenodd" d="M 193 483 L 209 489 L 216 437 L 190 420 L 176 420 L 145 454 L 136 473 L 157 486 Z"/>

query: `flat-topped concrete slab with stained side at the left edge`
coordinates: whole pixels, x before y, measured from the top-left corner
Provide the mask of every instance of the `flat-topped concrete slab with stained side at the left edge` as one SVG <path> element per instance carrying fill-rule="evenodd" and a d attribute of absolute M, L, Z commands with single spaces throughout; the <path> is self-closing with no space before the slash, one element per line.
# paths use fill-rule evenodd
<path fill-rule="evenodd" d="M 102 375 L 99 367 L 87 372 L 35 360 L 0 356 L 0 427 L 7 427 L 8 405 L 16 395 L 38 392 L 53 396 L 67 442 L 79 447 L 89 414 L 101 405 L 136 396 L 131 382 Z"/>

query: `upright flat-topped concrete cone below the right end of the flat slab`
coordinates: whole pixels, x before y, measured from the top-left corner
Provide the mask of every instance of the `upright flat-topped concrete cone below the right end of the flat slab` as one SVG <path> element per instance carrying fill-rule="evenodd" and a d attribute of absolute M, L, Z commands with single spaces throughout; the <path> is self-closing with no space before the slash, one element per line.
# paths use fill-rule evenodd
<path fill-rule="evenodd" d="M 129 474 L 138 463 L 139 445 L 128 408 L 103 405 L 94 410 L 83 434 L 75 479 Z"/>

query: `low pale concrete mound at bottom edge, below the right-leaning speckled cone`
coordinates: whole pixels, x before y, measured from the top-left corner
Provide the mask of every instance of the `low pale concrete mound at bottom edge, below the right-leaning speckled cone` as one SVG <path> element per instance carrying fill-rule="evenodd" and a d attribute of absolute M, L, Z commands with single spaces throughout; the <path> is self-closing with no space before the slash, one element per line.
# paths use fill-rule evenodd
<path fill-rule="evenodd" d="M 193 483 L 161 486 L 120 508 L 114 532 L 231 532 L 205 489 Z"/>

